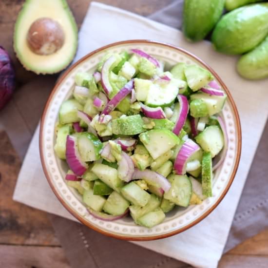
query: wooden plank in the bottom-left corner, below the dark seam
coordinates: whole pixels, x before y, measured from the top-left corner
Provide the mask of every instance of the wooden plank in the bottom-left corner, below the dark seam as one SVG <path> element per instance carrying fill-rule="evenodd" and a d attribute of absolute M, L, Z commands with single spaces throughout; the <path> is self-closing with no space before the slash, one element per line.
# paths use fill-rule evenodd
<path fill-rule="evenodd" d="M 70 268 L 64 251 L 58 247 L 0 245 L 4 268 Z"/>

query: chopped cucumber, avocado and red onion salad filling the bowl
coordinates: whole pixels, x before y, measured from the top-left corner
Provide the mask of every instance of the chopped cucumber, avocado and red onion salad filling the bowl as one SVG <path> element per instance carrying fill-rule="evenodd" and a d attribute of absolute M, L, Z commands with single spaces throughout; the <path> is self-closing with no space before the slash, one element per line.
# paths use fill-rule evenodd
<path fill-rule="evenodd" d="M 226 94 L 208 70 L 168 68 L 132 49 L 107 53 L 75 83 L 59 110 L 55 152 L 91 215 L 130 214 L 152 228 L 176 206 L 212 196 L 228 139 L 219 115 Z"/>

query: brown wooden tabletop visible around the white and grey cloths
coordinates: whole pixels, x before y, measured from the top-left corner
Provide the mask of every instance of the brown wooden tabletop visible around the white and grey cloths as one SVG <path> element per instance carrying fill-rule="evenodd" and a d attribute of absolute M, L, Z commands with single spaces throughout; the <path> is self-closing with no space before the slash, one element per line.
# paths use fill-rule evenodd
<path fill-rule="evenodd" d="M 80 25 L 90 0 L 68 0 Z M 148 15 L 171 0 L 101 0 L 126 10 Z M 25 71 L 12 50 L 13 27 L 22 0 L 0 1 L 0 42 L 15 62 L 18 84 L 36 77 Z M 4 268 L 69 268 L 63 249 L 55 236 L 47 213 L 12 200 L 21 166 L 6 133 L 0 131 L 0 267 Z M 250 238 L 226 253 L 219 267 L 268 267 L 268 230 Z"/>

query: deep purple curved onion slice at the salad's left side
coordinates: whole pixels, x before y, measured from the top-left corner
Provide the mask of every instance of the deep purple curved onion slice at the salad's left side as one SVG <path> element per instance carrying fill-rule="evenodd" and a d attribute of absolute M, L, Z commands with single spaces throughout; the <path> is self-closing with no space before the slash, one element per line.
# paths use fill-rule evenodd
<path fill-rule="evenodd" d="M 66 139 L 66 161 L 70 170 L 77 176 L 82 176 L 87 170 L 87 164 L 81 160 L 77 150 L 77 139 L 71 135 Z"/>

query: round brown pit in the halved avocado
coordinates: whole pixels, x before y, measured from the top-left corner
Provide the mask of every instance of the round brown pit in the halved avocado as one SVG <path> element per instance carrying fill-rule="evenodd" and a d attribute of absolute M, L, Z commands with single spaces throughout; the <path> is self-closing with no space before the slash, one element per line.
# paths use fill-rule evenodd
<path fill-rule="evenodd" d="M 64 43 L 64 32 L 59 23 L 50 18 L 35 20 L 27 34 L 30 49 L 38 55 L 51 55 Z"/>

